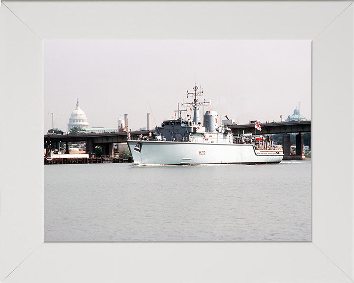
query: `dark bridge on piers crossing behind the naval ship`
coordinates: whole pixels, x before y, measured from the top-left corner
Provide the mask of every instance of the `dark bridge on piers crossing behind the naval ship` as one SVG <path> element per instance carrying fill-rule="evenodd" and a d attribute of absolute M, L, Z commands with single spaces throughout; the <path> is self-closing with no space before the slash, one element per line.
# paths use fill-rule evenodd
<path fill-rule="evenodd" d="M 234 136 L 243 133 L 252 133 L 256 135 L 272 135 L 283 134 L 283 151 L 284 159 L 303 159 L 303 136 L 304 132 L 311 132 L 311 121 L 298 122 L 272 122 L 260 123 L 261 131 L 255 130 L 254 124 L 244 125 L 229 125 Z M 154 131 L 151 131 L 154 132 Z M 138 139 L 140 135 L 147 136 L 149 131 L 133 131 L 130 132 L 131 139 Z M 297 133 L 296 135 L 296 155 L 290 154 L 290 133 Z M 83 134 L 69 134 L 69 135 L 44 135 L 44 142 L 49 144 L 56 143 L 58 147 L 59 142 L 65 142 L 66 151 L 69 153 L 68 142 L 86 142 L 86 152 L 92 155 L 95 152 L 96 145 L 102 147 L 103 155 L 113 155 L 113 144 L 126 141 L 126 133 L 83 133 Z M 48 148 L 48 147 L 47 147 Z"/>

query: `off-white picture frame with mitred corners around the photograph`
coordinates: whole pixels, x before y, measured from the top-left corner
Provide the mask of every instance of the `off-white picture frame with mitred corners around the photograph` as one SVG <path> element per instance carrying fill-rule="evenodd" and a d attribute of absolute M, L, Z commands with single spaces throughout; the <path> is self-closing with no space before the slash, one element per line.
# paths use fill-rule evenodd
<path fill-rule="evenodd" d="M 353 136 L 353 19 L 352 1 L 3 1 L 0 282 L 353 282 L 353 151 L 324 136 Z M 43 40 L 90 36 L 311 40 L 311 242 L 43 243 Z"/>

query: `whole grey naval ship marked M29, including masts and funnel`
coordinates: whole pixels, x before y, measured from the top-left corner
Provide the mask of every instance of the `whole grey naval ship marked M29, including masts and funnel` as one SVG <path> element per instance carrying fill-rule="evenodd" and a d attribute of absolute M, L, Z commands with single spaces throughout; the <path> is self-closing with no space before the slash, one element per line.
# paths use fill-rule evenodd
<path fill-rule="evenodd" d="M 130 140 L 127 144 L 135 165 L 140 164 L 267 164 L 280 163 L 283 150 L 275 145 L 272 139 L 252 134 L 233 136 L 228 127 L 219 126 L 216 111 L 207 110 L 204 113 L 203 125 L 200 117 L 200 107 L 209 102 L 199 102 L 198 97 L 203 90 L 198 91 L 194 85 L 193 92 L 188 92 L 187 98 L 193 96 L 193 102 L 183 106 L 193 108 L 193 120 L 182 118 L 179 110 L 178 118 L 164 120 L 161 127 L 156 127 L 154 137 L 140 137 Z"/>

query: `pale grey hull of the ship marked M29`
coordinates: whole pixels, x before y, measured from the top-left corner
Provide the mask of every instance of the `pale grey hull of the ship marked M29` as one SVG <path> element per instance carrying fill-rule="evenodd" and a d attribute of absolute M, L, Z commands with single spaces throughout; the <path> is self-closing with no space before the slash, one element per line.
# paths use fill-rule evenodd
<path fill-rule="evenodd" d="M 253 144 L 127 141 L 134 164 L 266 164 L 279 163 L 283 152 L 256 150 Z"/>

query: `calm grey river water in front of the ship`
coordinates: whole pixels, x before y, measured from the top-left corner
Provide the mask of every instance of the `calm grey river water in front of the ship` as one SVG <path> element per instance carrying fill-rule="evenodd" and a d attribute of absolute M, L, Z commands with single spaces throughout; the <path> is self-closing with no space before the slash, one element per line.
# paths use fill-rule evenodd
<path fill-rule="evenodd" d="M 44 166 L 45 241 L 309 241 L 311 161 Z"/>

